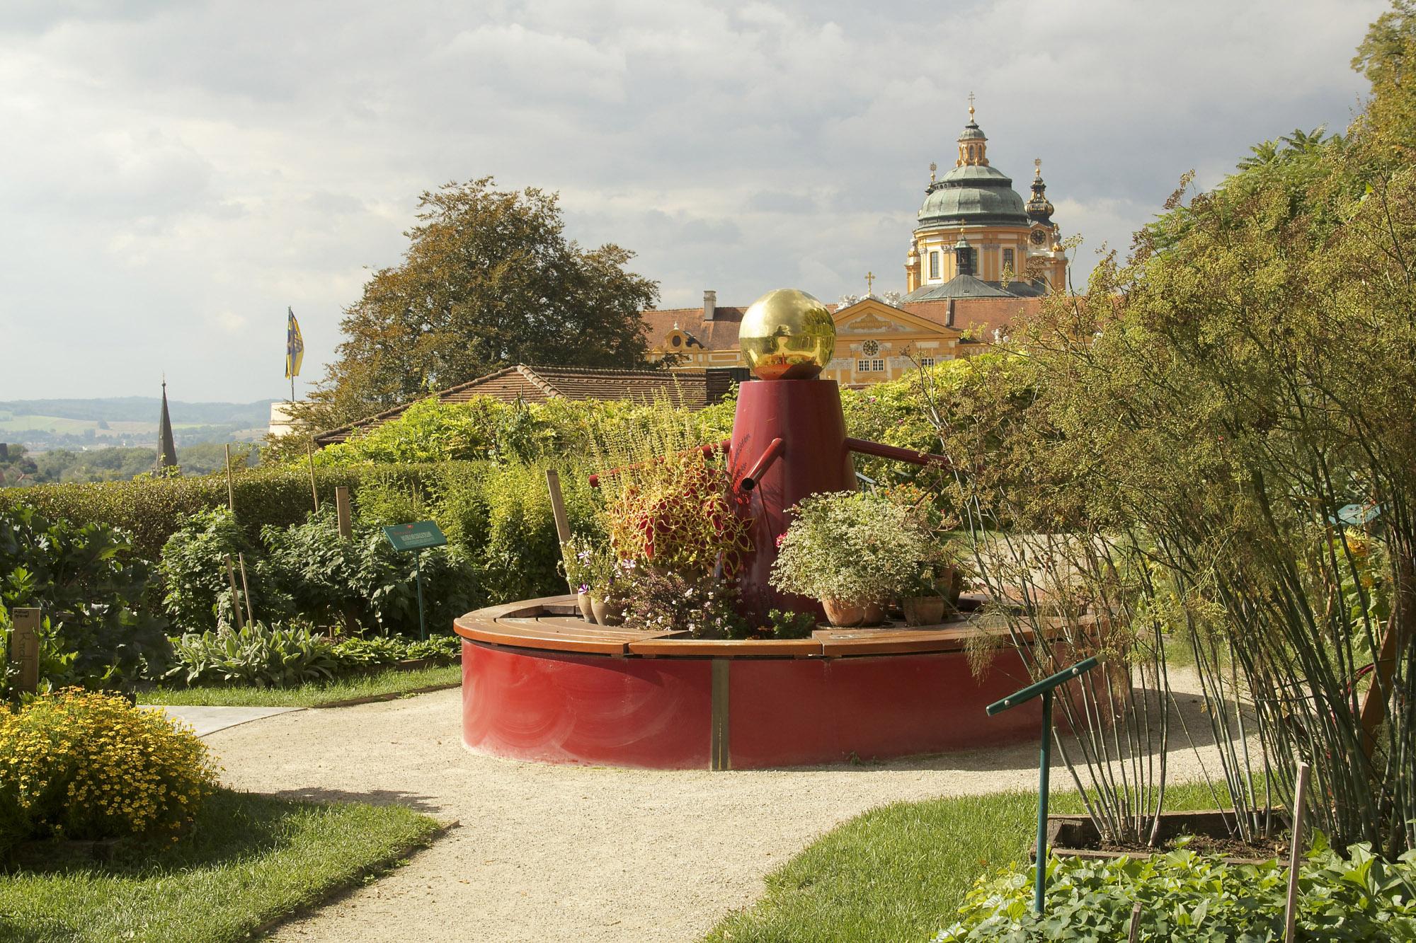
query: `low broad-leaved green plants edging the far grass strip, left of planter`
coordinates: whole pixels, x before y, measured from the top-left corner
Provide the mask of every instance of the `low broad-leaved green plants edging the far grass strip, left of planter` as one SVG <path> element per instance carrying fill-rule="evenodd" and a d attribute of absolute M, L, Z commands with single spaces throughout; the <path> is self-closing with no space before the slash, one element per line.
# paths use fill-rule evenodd
<path fill-rule="evenodd" d="M 187 685 L 249 684 L 289 688 L 333 678 L 340 660 L 307 626 L 251 623 L 239 630 L 188 633 L 173 641 L 167 680 Z"/>

